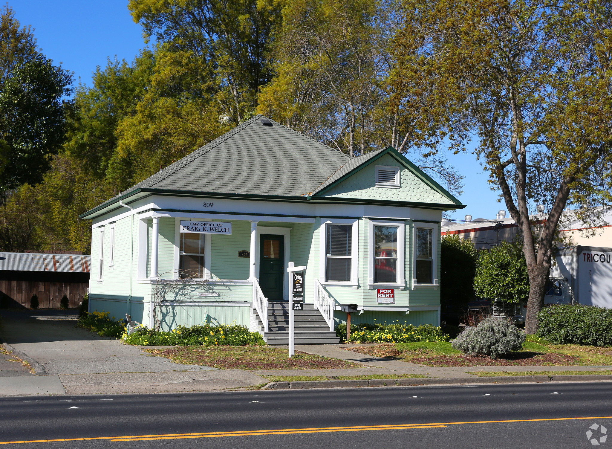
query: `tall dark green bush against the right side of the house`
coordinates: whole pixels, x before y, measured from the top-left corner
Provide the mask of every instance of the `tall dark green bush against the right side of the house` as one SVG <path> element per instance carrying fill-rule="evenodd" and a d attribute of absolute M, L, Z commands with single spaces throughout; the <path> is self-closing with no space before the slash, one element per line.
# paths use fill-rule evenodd
<path fill-rule="evenodd" d="M 474 299 L 476 249 L 469 239 L 447 235 L 440 241 L 440 301 L 462 306 Z"/>

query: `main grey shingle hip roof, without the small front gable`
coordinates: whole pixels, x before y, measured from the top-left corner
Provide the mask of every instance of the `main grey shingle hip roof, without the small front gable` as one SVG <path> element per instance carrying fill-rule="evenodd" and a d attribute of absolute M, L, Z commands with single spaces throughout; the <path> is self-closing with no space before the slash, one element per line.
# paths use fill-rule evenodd
<path fill-rule="evenodd" d="M 177 191 L 300 196 L 314 191 L 350 158 L 258 115 L 155 173 L 138 187 Z"/>

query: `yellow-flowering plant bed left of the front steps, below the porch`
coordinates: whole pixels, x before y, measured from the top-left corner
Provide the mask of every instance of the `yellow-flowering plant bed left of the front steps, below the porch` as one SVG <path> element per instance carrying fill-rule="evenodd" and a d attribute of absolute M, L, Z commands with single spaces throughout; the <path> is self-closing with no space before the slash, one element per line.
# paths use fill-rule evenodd
<path fill-rule="evenodd" d="M 169 332 L 156 331 L 139 326 L 132 334 L 122 336 L 127 344 L 144 346 L 189 346 L 189 345 L 220 345 L 220 346 L 264 346 L 266 342 L 259 332 L 249 332 L 240 325 L 196 325 L 178 326 Z"/>

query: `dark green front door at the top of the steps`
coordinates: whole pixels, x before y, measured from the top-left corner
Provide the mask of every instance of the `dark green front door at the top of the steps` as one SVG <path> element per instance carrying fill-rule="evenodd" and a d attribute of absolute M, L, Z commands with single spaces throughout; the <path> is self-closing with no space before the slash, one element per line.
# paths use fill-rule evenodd
<path fill-rule="evenodd" d="M 269 301 L 282 301 L 285 236 L 262 234 L 259 238 L 259 286 Z"/>

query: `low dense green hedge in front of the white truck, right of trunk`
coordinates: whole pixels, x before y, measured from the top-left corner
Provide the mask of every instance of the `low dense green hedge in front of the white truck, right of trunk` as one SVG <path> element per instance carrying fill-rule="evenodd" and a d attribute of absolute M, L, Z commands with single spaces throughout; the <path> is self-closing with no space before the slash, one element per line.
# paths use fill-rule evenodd
<path fill-rule="evenodd" d="M 555 304 L 537 315 L 537 336 L 553 344 L 612 346 L 612 309 Z"/>

